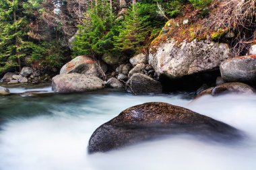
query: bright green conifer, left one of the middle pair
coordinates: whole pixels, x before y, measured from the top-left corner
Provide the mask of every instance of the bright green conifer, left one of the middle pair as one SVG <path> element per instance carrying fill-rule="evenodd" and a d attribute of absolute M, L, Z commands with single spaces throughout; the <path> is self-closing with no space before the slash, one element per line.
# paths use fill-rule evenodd
<path fill-rule="evenodd" d="M 103 54 L 113 48 L 113 22 L 115 15 L 108 1 L 99 1 L 86 13 L 84 23 L 78 26 L 78 35 L 73 42 L 73 56 Z"/>

